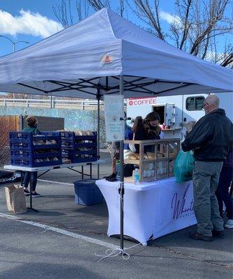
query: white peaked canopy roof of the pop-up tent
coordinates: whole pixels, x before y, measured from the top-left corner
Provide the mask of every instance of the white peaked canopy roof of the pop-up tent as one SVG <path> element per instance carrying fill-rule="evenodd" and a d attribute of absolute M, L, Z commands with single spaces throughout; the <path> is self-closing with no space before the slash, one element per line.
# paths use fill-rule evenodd
<path fill-rule="evenodd" d="M 0 91 L 77 98 L 232 91 L 232 70 L 168 45 L 103 8 L 0 59 Z M 99 90 L 98 90 L 99 89 Z"/>

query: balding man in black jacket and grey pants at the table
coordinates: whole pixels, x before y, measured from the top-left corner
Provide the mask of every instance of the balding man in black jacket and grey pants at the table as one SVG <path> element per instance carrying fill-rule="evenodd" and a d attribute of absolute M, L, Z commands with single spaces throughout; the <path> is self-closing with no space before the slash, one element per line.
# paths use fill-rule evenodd
<path fill-rule="evenodd" d="M 191 239 L 211 241 L 224 235 L 223 219 L 218 211 L 215 192 L 218 179 L 232 145 L 232 122 L 219 109 L 219 98 L 213 94 L 204 100 L 203 116 L 181 144 L 183 151 L 194 150 L 193 169 L 194 210 L 197 232 Z"/>

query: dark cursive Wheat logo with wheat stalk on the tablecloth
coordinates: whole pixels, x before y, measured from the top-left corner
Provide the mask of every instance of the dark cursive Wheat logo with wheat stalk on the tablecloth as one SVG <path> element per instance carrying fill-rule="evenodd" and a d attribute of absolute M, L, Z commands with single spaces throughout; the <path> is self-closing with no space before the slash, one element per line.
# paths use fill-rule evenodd
<path fill-rule="evenodd" d="M 190 183 L 186 186 L 186 189 L 183 192 L 183 198 L 179 199 L 178 194 L 174 193 L 172 197 L 172 209 L 173 209 L 173 220 L 177 220 L 181 218 L 184 213 L 193 212 L 193 199 L 191 200 L 190 204 L 186 202 L 186 196 L 188 193 L 188 188 L 190 187 Z"/>

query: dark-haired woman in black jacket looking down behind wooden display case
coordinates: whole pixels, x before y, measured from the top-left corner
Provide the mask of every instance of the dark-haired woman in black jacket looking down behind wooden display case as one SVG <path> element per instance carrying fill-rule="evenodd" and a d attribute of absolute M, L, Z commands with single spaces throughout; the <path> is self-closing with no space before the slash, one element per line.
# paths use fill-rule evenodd
<path fill-rule="evenodd" d="M 150 112 L 146 118 L 137 123 L 135 128 L 135 140 L 160 140 L 161 128 L 158 125 L 160 116 L 156 112 Z M 136 153 L 139 153 L 139 144 L 135 144 Z M 144 153 L 151 152 L 151 146 L 144 147 Z M 154 152 L 154 151 L 153 151 Z"/>

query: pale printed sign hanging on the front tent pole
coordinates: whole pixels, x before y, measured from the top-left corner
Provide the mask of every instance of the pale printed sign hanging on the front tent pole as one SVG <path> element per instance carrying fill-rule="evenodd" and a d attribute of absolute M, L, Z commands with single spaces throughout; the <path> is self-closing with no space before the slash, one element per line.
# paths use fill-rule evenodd
<path fill-rule="evenodd" d="M 123 96 L 105 95 L 105 127 L 106 141 L 118 142 L 124 140 Z"/>

